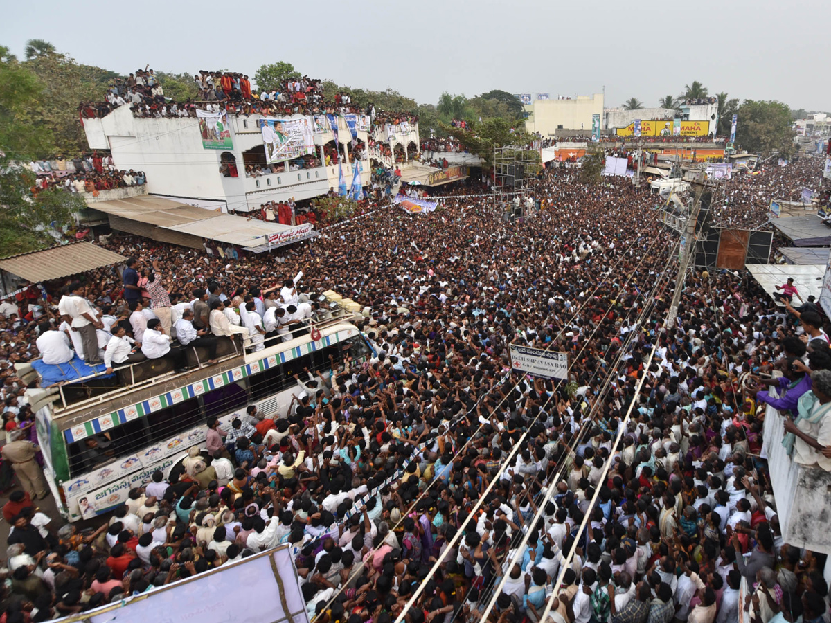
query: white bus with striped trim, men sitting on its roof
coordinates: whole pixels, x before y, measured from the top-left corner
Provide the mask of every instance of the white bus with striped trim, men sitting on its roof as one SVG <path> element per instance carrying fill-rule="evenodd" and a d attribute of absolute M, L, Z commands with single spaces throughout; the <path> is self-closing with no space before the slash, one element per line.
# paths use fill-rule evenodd
<path fill-rule="evenodd" d="M 263 351 L 132 385 L 102 387 L 87 379 L 28 390 L 44 473 L 61 515 L 76 521 L 106 513 L 124 503 L 130 489 L 149 483 L 156 470 L 166 477 L 192 446 L 204 449 L 209 417 L 218 417 L 226 430 L 248 405 L 285 417 L 304 368 L 329 370 L 330 356 L 337 365 L 346 356 L 362 361 L 370 354 L 361 331 L 348 321 L 332 319 L 316 329 L 317 340 L 307 333 L 267 342 Z M 135 381 L 129 367 L 120 377 Z M 91 447 L 93 439 L 97 447 Z"/>

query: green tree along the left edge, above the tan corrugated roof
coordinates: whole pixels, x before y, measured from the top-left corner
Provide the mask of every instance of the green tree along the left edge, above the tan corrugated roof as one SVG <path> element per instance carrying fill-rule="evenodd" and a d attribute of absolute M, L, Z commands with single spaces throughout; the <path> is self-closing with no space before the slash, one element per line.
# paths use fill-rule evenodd
<path fill-rule="evenodd" d="M 35 175 L 19 163 L 52 153 L 52 132 L 31 114 L 42 82 L 17 61 L 0 61 L 0 253 L 26 253 L 52 243 L 45 229 L 72 222 L 84 207 L 77 195 L 48 190 L 32 197 Z"/>

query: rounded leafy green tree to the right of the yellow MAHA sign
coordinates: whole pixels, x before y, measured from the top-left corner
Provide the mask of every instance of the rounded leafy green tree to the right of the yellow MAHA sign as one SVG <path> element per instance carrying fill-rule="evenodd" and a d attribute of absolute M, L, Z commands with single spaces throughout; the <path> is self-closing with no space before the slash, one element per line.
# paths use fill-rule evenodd
<path fill-rule="evenodd" d="M 745 100 L 739 106 L 735 141 L 753 154 L 770 155 L 779 150 L 784 158 L 794 151 L 790 109 L 779 101 Z"/>

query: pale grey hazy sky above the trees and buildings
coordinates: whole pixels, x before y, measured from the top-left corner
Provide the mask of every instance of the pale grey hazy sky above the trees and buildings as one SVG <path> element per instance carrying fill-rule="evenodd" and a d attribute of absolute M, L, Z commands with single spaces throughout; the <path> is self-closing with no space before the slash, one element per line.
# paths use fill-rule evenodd
<path fill-rule="evenodd" d="M 442 91 L 602 92 L 647 106 L 697 80 L 711 95 L 831 110 L 824 75 L 831 2 L 10 2 L 0 44 L 27 39 L 129 73 L 229 69 L 253 76 L 288 61 L 312 77 L 420 103 Z"/>

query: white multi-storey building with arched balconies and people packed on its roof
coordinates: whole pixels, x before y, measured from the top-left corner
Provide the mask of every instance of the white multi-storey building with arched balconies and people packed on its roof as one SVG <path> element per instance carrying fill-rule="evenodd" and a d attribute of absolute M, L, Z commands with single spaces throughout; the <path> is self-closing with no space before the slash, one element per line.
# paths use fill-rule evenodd
<path fill-rule="evenodd" d="M 338 188 L 340 171 L 348 186 L 352 185 L 354 167 L 360 167 L 361 184 L 370 183 L 371 160 L 391 166 L 394 157 L 381 149 L 368 147 L 370 139 L 402 153 L 419 145 L 418 125 L 363 125 L 356 129 L 356 143 L 366 145 L 360 159 L 352 153 L 352 131 L 343 115 L 337 117 L 337 144 L 330 125 L 313 128 L 313 154 L 321 166 L 312 169 L 283 170 L 257 177 L 245 173 L 246 164 L 263 162 L 262 115 L 229 113 L 224 130 L 230 132 L 228 149 L 204 147 L 203 128 L 194 117 L 136 117 L 129 106 L 120 106 L 102 118 L 84 119 L 86 140 L 91 149 L 111 150 L 118 169 L 144 171 L 146 192 L 200 205 L 224 203 L 226 210 L 250 212 L 268 201 L 310 199 Z M 269 117 L 268 119 L 273 119 Z M 282 119 L 280 117 L 277 118 Z M 325 119 L 325 118 L 324 118 Z M 324 145 L 337 148 L 341 167 L 325 166 Z M 234 164 L 237 176 L 220 171 L 223 164 Z M 282 166 L 288 169 L 288 161 Z M 225 173 L 228 168 L 224 167 Z M 213 203 L 211 203 L 213 202 Z M 208 207 L 208 206 L 205 206 Z M 226 211 L 224 210 L 224 211 Z"/>

